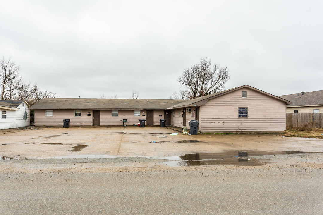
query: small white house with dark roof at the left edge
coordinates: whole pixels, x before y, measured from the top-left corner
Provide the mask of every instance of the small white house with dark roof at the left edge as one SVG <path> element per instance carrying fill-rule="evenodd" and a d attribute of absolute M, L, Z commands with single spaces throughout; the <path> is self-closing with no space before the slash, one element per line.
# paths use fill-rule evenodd
<path fill-rule="evenodd" d="M 0 129 L 29 126 L 29 105 L 22 100 L 0 100 Z"/>

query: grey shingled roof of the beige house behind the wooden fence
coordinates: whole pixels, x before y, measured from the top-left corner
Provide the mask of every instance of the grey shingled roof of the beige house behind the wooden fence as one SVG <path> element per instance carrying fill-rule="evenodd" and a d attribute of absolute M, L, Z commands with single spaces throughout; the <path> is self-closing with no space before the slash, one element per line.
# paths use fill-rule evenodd
<path fill-rule="evenodd" d="M 309 105 L 323 105 L 323 90 L 294 93 L 289 95 L 280 95 L 279 97 L 293 102 L 293 104 L 288 104 L 288 106 L 309 106 Z"/>

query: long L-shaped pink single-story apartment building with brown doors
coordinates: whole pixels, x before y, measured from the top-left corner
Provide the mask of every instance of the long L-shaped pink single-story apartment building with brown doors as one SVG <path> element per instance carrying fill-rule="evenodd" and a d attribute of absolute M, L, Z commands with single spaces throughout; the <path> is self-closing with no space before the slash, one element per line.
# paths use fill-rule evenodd
<path fill-rule="evenodd" d="M 200 132 L 279 132 L 286 130 L 286 104 L 291 102 L 243 85 L 191 100 L 45 98 L 33 106 L 36 126 L 189 126 L 199 120 Z"/>

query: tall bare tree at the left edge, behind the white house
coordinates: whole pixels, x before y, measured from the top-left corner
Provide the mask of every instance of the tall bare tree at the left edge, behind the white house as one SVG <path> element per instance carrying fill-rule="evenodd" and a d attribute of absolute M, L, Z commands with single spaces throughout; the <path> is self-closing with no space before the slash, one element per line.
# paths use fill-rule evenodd
<path fill-rule="evenodd" d="M 4 57 L 0 59 L 0 99 L 10 100 L 19 96 L 19 90 L 17 90 L 22 83 L 19 71 L 20 66 L 9 58 L 6 60 Z"/>

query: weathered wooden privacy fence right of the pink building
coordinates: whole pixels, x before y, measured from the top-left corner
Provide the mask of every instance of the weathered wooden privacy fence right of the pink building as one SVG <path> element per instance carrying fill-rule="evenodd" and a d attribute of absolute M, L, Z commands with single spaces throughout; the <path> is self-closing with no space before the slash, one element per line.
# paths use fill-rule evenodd
<path fill-rule="evenodd" d="M 323 128 L 323 113 L 287 113 L 286 126 Z"/>

